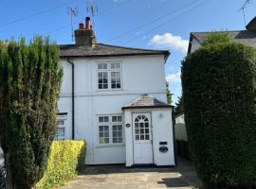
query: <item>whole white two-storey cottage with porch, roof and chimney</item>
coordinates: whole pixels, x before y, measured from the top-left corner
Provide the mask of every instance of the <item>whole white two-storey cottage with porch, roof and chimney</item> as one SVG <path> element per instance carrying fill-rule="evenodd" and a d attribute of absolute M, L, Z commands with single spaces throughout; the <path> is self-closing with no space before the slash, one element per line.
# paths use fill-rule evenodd
<path fill-rule="evenodd" d="M 86 164 L 174 165 L 169 51 L 97 43 L 90 19 L 61 45 L 64 81 L 56 139 L 85 139 Z"/>

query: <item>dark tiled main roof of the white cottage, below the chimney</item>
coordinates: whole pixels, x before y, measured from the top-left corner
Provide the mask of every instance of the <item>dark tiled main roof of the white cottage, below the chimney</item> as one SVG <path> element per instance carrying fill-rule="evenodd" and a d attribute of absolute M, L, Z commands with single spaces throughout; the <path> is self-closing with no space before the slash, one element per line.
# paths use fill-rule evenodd
<path fill-rule="evenodd" d="M 168 50 L 149 50 L 140 48 L 123 47 L 103 43 L 95 43 L 92 46 L 80 46 L 76 44 L 60 45 L 61 58 L 66 57 L 115 57 L 133 55 L 165 55 L 167 59 L 170 55 Z"/>

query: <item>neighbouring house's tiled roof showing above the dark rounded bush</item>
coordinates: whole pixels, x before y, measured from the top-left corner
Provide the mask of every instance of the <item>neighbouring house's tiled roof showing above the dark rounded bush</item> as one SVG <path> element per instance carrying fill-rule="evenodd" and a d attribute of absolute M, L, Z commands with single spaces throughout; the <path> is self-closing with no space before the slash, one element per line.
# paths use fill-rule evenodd
<path fill-rule="evenodd" d="M 247 45 L 256 47 L 256 31 L 240 30 L 223 32 L 228 32 L 230 37 L 233 38 L 235 42 L 245 43 Z M 213 32 L 192 32 L 192 37 L 196 38 L 199 43 L 203 43 L 210 33 Z"/>

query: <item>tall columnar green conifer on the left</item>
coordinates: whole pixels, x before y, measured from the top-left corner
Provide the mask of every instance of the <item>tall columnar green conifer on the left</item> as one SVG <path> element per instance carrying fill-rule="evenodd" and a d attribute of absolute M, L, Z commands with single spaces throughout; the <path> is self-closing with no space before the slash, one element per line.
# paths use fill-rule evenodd
<path fill-rule="evenodd" d="M 59 47 L 35 37 L 0 42 L 0 139 L 8 188 L 33 188 L 56 130 L 63 71 Z"/>

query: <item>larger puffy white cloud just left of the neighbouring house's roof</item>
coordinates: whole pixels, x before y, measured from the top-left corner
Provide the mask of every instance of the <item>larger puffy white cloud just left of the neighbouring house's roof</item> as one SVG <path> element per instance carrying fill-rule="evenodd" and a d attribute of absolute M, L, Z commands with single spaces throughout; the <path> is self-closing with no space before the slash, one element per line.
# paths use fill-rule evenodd
<path fill-rule="evenodd" d="M 165 33 L 163 35 L 155 35 L 150 43 L 161 47 L 174 48 L 186 53 L 189 46 L 188 40 L 183 40 L 180 36 L 175 36 L 172 33 Z"/>

